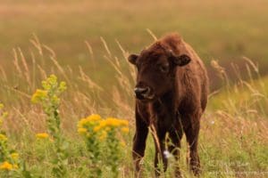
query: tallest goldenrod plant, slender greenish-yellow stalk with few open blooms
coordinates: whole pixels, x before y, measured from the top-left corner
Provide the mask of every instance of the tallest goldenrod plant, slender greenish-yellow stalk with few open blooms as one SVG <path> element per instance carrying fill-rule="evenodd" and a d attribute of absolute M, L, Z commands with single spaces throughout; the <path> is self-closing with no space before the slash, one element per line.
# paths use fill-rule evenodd
<path fill-rule="evenodd" d="M 56 177 L 65 177 L 67 174 L 67 147 L 68 143 L 61 132 L 61 118 L 59 115 L 60 95 L 66 90 L 66 84 L 58 84 L 57 77 L 51 75 L 42 82 L 43 89 L 38 89 L 32 95 L 33 103 L 41 104 L 46 113 L 47 133 L 53 139 L 54 160 L 52 161 L 53 174 Z M 47 138 L 48 134 L 37 134 L 38 138 Z"/>

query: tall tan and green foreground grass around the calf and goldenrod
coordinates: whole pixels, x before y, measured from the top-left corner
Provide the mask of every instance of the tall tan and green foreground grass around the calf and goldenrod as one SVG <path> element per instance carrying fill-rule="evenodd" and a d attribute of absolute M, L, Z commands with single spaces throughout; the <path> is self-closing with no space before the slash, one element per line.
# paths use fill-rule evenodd
<path fill-rule="evenodd" d="M 4 128 L 10 135 L 13 147 L 21 150 L 21 158 L 27 160 L 29 169 L 34 174 L 51 177 L 50 170 L 38 166 L 41 162 L 47 166 L 53 157 L 50 142 L 33 142 L 34 133 L 46 132 L 46 115 L 39 106 L 30 104 L 31 93 L 39 88 L 41 80 L 50 74 L 66 81 L 68 90 L 63 93 L 60 116 L 63 118 L 63 135 L 67 142 L 72 143 L 69 152 L 67 168 L 69 177 L 84 177 L 88 167 L 81 166 L 87 157 L 83 151 L 85 143 L 77 134 L 76 123 L 81 117 L 92 113 L 100 115 L 123 117 L 130 121 L 130 134 L 134 131 L 134 100 L 132 88 L 135 84 L 136 71 L 126 61 L 128 52 L 120 42 L 118 46 L 121 56 L 113 56 L 104 38 L 100 41 L 105 51 L 105 62 L 98 61 L 91 45 L 86 42 L 90 59 L 88 65 L 63 66 L 59 63 L 56 53 L 46 44 L 42 44 L 37 36 L 30 40 L 34 50 L 23 52 L 20 48 L 13 50 L 13 69 L 0 67 L 0 95 L 5 103 L 9 116 L 5 119 Z M 153 41 L 153 39 L 152 39 Z M 30 58 L 25 58 L 29 53 Z M 237 73 L 237 82 L 231 83 L 228 74 L 220 62 L 213 61 L 215 73 L 222 77 L 225 87 L 210 95 L 209 106 L 202 118 L 200 135 L 200 158 L 204 177 L 265 177 L 268 170 L 268 140 L 267 140 L 267 81 L 259 77 L 257 66 L 245 58 L 247 74 Z M 99 69 L 109 66 L 113 75 L 99 73 Z M 13 70 L 13 75 L 7 75 Z M 79 72 L 74 72 L 79 71 Z M 79 73 L 79 75 L 77 75 Z M 256 79 L 255 79 L 256 78 Z M 41 146 L 42 145 L 42 146 Z M 131 164 L 131 138 L 126 142 L 126 153 L 121 155 L 119 166 L 120 177 L 133 176 Z M 144 169 L 147 177 L 154 174 L 153 158 L 154 144 L 149 138 L 147 144 Z M 186 177 L 190 177 L 187 158 L 186 141 L 183 138 L 180 167 Z M 171 172 L 165 174 L 172 177 Z M 109 177 L 109 174 L 103 174 Z"/>

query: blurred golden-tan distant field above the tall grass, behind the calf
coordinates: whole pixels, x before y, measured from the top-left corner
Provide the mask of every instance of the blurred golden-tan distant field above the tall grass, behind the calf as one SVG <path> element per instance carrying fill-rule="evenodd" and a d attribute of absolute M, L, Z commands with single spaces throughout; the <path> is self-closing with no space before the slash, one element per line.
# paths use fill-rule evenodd
<path fill-rule="evenodd" d="M 15 72 L 13 50 L 18 47 L 30 64 L 30 56 L 36 53 L 30 39 L 38 37 L 54 50 L 63 68 L 71 66 L 74 71 L 79 66 L 86 71 L 94 68 L 92 51 L 101 68 L 91 77 L 109 83 L 113 81 L 104 78 L 112 71 L 103 62 L 106 52 L 101 36 L 113 56 L 122 60 L 116 41 L 127 52 L 138 53 L 153 42 L 147 28 L 157 37 L 175 31 L 205 61 L 215 90 L 221 82 L 210 67 L 212 60 L 225 67 L 230 78 L 236 75 L 233 68 L 241 74 L 247 71 L 244 57 L 258 64 L 261 75 L 267 74 L 267 7 L 266 0 L 1 0 L 0 66 Z"/>

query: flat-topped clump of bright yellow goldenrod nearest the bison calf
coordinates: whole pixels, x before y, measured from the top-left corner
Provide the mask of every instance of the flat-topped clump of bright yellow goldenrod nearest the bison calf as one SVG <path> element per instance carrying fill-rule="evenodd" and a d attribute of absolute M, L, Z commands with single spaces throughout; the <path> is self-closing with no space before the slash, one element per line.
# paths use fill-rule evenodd
<path fill-rule="evenodd" d="M 88 147 L 89 177 L 101 177 L 104 168 L 111 171 L 111 177 L 118 177 L 121 147 L 124 146 L 119 136 L 129 133 L 129 121 L 91 115 L 80 120 L 78 132 L 85 138 Z"/>

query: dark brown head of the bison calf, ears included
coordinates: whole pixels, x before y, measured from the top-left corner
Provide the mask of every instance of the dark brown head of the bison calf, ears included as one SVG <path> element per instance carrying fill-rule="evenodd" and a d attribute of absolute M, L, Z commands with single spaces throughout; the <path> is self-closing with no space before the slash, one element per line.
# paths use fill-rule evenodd
<path fill-rule="evenodd" d="M 128 60 L 138 69 L 134 93 L 139 101 L 154 101 L 171 91 L 176 68 L 190 62 L 188 55 L 177 55 L 164 48 L 130 54 Z"/>

